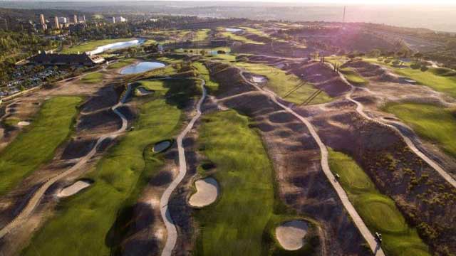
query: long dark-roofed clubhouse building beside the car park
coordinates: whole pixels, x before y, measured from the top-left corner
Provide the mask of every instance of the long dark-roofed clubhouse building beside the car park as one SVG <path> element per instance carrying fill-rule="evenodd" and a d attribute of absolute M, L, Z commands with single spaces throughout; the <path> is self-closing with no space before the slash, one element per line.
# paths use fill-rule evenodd
<path fill-rule="evenodd" d="M 103 63 L 105 59 L 99 55 L 88 55 L 87 53 L 59 54 L 38 52 L 37 55 L 28 58 L 28 62 L 38 65 L 85 65 L 93 66 Z"/>

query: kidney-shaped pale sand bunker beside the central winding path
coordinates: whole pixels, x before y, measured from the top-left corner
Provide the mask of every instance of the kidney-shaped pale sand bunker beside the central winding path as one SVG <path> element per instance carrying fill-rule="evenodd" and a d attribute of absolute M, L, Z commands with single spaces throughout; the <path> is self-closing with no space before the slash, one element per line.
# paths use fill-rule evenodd
<path fill-rule="evenodd" d="M 190 196 L 190 206 L 204 207 L 214 203 L 219 196 L 219 183 L 214 178 L 203 178 L 195 182 L 197 193 Z"/>

